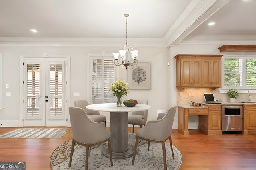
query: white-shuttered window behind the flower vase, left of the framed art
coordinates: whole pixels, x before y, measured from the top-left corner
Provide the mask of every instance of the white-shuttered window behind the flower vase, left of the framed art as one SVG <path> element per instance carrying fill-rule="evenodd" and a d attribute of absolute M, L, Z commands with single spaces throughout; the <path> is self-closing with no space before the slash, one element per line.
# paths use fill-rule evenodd
<path fill-rule="evenodd" d="M 109 86 L 116 81 L 113 57 L 90 57 L 91 104 L 113 103 Z"/>

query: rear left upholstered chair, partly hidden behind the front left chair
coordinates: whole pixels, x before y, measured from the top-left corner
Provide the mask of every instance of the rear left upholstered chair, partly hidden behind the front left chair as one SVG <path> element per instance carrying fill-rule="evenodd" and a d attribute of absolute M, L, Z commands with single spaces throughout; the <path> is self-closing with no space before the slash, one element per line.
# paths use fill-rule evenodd
<path fill-rule="evenodd" d="M 89 105 L 87 100 L 76 100 L 75 101 L 75 107 L 79 107 L 84 109 L 89 119 L 95 122 L 104 122 L 106 126 L 106 116 L 100 115 L 98 111 L 93 111 L 87 109 L 85 106 Z"/>

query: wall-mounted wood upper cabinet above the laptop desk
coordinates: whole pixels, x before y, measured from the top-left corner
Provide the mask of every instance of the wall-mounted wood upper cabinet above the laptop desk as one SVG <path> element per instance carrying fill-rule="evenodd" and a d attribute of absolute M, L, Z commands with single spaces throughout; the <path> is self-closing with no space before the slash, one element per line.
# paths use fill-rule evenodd
<path fill-rule="evenodd" d="M 221 87 L 222 55 L 178 54 L 177 88 Z"/>

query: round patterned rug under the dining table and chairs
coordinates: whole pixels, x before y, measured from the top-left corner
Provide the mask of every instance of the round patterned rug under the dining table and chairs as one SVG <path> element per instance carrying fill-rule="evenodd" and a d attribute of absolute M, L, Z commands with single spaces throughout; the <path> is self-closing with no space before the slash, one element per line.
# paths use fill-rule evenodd
<path fill-rule="evenodd" d="M 128 143 L 135 145 L 136 134 L 129 133 Z M 178 170 L 182 156 L 180 151 L 174 147 L 174 160 L 172 159 L 172 151 L 170 143 L 166 144 L 167 169 Z M 75 145 L 71 167 L 68 167 L 69 156 L 71 152 L 72 139 L 58 146 L 50 157 L 52 170 L 84 170 L 85 169 L 85 147 Z M 132 157 L 126 159 L 113 159 L 113 165 L 110 166 L 110 159 L 102 156 L 102 148 L 108 146 L 103 143 L 91 148 L 89 152 L 88 169 L 89 170 L 163 170 L 163 152 L 160 143 L 150 143 L 148 151 L 148 142 L 140 141 L 138 144 L 138 152 L 136 154 L 134 165 L 132 165 Z"/>

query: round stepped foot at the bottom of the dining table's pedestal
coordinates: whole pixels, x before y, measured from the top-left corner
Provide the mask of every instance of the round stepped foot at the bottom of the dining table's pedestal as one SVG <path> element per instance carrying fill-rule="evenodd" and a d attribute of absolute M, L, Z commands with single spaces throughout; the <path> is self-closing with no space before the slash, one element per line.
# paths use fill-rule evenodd
<path fill-rule="evenodd" d="M 105 147 L 104 149 L 102 149 L 101 153 L 103 156 L 110 158 L 108 147 Z M 112 158 L 126 159 L 126 158 L 132 157 L 133 154 L 134 154 L 134 145 L 128 145 L 128 150 L 126 150 L 125 152 L 112 152 Z"/>

